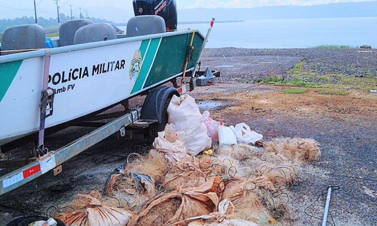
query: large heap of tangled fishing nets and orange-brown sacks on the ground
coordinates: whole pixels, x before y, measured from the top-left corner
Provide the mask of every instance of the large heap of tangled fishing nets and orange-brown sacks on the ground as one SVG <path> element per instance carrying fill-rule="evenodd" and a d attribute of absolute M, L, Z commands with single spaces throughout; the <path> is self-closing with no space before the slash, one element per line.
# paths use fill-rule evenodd
<path fill-rule="evenodd" d="M 288 192 L 299 184 L 300 166 L 318 161 L 319 147 L 311 139 L 279 138 L 264 148 L 238 144 L 215 149 L 212 156 L 174 161 L 152 149 L 144 156 L 131 154 L 134 158 L 111 176 L 106 194 L 112 201 L 105 204 L 96 192 L 91 196 L 126 211 L 128 226 L 256 225 L 264 214 L 281 220 L 292 216 Z M 64 215 L 68 226 L 81 226 L 72 219 L 87 217 L 85 212 L 94 206 L 81 198 L 81 204 L 72 205 L 75 213 Z"/>

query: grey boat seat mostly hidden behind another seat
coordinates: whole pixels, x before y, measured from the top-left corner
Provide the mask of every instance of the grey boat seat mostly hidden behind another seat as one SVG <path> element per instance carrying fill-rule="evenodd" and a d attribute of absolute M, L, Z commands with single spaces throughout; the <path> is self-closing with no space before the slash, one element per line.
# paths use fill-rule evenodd
<path fill-rule="evenodd" d="M 79 28 L 89 24 L 93 24 L 93 22 L 87 19 L 72 20 L 63 23 L 59 29 L 60 46 L 73 45 L 74 34 L 76 34 L 76 31 Z"/>

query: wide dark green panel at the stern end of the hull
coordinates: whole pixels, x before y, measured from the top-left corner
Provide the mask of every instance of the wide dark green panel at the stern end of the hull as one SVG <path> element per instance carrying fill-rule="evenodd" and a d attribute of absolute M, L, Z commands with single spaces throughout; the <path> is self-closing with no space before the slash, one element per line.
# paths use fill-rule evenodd
<path fill-rule="evenodd" d="M 182 73 L 186 63 L 187 48 L 191 44 L 193 34 L 163 37 L 156 59 L 143 88 L 149 87 Z M 193 60 L 187 65 L 187 69 L 193 68 L 199 58 L 204 39 L 195 34 L 193 46 Z M 189 75 L 191 76 L 191 75 Z"/>

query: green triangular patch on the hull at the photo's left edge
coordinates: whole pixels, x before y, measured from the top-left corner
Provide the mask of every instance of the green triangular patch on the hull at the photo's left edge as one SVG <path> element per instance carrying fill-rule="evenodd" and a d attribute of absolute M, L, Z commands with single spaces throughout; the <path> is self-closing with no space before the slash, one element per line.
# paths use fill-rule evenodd
<path fill-rule="evenodd" d="M 23 60 L 0 64 L 0 102 L 16 77 Z"/>

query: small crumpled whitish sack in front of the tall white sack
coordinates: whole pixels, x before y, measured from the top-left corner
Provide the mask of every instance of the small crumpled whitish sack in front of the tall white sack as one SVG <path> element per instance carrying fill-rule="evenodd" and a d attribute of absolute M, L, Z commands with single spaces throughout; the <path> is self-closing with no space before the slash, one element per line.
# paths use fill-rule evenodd
<path fill-rule="evenodd" d="M 150 151 L 152 155 L 163 155 L 173 165 L 190 156 L 187 154 L 187 148 L 183 142 L 176 141 L 175 143 L 170 143 L 164 138 L 164 136 L 164 131 L 158 133 L 158 137 L 153 142 L 155 150 L 152 149 Z M 155 151 L 158 153 L 154 153 Z"/>

